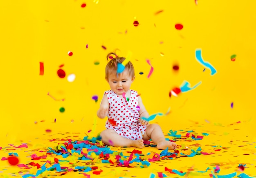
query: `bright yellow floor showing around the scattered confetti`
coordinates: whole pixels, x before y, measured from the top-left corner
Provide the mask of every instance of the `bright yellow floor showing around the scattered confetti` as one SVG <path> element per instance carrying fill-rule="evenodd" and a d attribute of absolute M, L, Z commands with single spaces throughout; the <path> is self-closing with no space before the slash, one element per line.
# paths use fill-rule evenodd
<path fill-rule="evenodd" d="M 50 147 L 52 149 L 56 149 L 59 143 L 67 142 L 63 141 L 67 140 L 67 138 L 71 139 L 72 142 L 74 142 L 75 140 L 83 141 L 86 133 L 69 133 L 60 131 L 55 133 L 46 133 L 40 136 L 31 136 L 31 139 L 27 140 L 27 142 L 24 142 L 25 140 L 22 140 L 16 143 L 9 143 L 13 144 L 13 146 L 15 147 L 26 144 L 27 148 L 15 148 L 11 145 L 8 145 L 8 143 L 1 143 L 1 158 L 7 158 L 8 154 L 10 153 L 17 153 L 19 158 L 18 164 L 24 164 L 23 166 L 26 166 L 11 166 L 9 165 L 7 160 L 1 160 L 0 176 L 20 177 L 25 174 L 35 175 L 36 172 L 39 171 L 41 173 L 38 175 L 38 177 L 54 177 L 61 176 L 62 174 L 62 176 L 65 177 L 86 177 L 86 175 L 90 175 L 90 177 L 103 176 L 124 178 L 153 178 L 154 176 L 157 178 L 161 177 L 161 174 L 163 175 L 163 177 L 167 176 L 171 178 L 214 176 L 220 177 L 222 175 L 228 175 L 226 177 L 237 177 L 238 175 L 244 178 L 248 178 L 248 176 L 256 177 L 256 140 L 254 134 L 248 132 L 247 129 L 251 124 L 253 124 L 253 122 L 251 121 L 240 123 L 234 122 L 229 125 L 221 125 L 216 123 L 209 124 L 207 122 L 201 125 L 191 124 L 191 126 L 184 126 L 183 129 L 177 130 L 177 133 L 175 133 L 176 130 L 173 130 L 173 134 L 180 134 L 181 138 L 178 138 L 178 136 L 176 138 L 173 136 L 169 136 L 168 133 L 171 132 L 169 132 L 167 128 L 164 128 L 164 134 L 166 135 L 166 138 L 174 141 L 176 140 L 177 145 L 179 145 L 177 149 L 179 153 L 173 159 L 160 156 L 160 159 L 158 161 L 150 160 L 153 157 L 157 158 L 158 156 L 155 154 L 160 154 L 162 152 L 162 150 L 157 150 L 155 147 L 151 147 L 153 145 L 146 145 L 143 149 L 111 147 L 110 150 L 114 151 L 114 153 L 110 154 L 110 156 L 106 160 L 112 160 L 113 163 L 102 163 L 101 161 L 103 160 L 103 158 L 101 158 L 101 156 L 97 154 L 92 154 L 91 156 L 89 156 L 92 157 L 92 160 L 78 160 L 81 155 L 74 153 L 70 154 L 70 156 L 68 156 L 67 158 L 63 158 L 63 156 L 57 156 L 56 154 L 46 154 L 47 151 L 51 150 L 47 148 Z M 175 126 L 175 128 L 177 127 L 182 128 L 182 124 L 180 126 Z M 188 133 L 190 133 L 190 135 L 186 137 L 186 134 Z M 192 134 L 194 134 L 195 137 L 203 136 L 203 138 L 202 140 L 193 140 L 191 139 Z M 207 136 L 207 134 L 209 135 Z M 61 141 L 62 138 L 64 139 Z M 56 140 L 50 141 L 53 139 Z M 201 148 L 201 151 L 198 150 L 199 147 Z M 117 166 L 119 161 L 117 161 L 115 159 L 116 157 L 113 155 L 120 155 L 120 153 L 122 153 L 123 157 L 128 156 L 126 157 L 126 160 L 128 160 L 131 152 L 134 149 L 141 151 L 141 154 L 137 155 L 138 157 L 133 155 L 132 157 L 130 157 L 130 160 L 132 161 L 135 158 L 139 158 L 140 161 L 144 161 L 144 165 L 139 161 L 129 164 L 129 167 Z M 99 148 L 99 150 L 101 150 L 101 148 Z M 184 156 L 193 154 L 193 151 L 191 150 L 198 150 L 198 152 L 191 157 Z M 69 152 L 71 153 L 71 149 Z M 83 152 L 90 152 L 90 150 L 83 149 Z M 174 151 L 168 152 L 173 154 Z M 209 155 L 203 155 L 202 152 L 209 153 Z M 182 155 L 181 153 L 184 155 Z M 36 156 L 38 156 L 40 159 L 31 160 L 32 154 L 36 154 Z M 103 155 L 106 156 L 106 154 Z M 66 167 L 66 171 L 63 171 L 64 169 L 59 172 L 53 169 L 42 171 L 42 168 L 37 169 L 36 166 L 29 165 L 29 163 L 34 162 L 35 164 L 38 163 L 42 166 L 46 163 L 47 160 L 49 160 L 49 163 L 45 165 L 47 169 L 54 165 L 54 158 L 58 158 L 60 166 Z M 150 163 L 150 165 L 146 166 L 147 162 Z M 245 166 L 244 171 L 241 171 L 238 168 L 239 165 Z M 80 166 L 80 168 L 77 166 Z M 93 170 L 83 172 L 84 170 L 90 169 L 87 167 L 90 167 Z M 210 169 L 207 170 L 208 167 Z M 180 176 L 174 173 L 171 174 L 169 171 L 166 171 L 165 168 L 168 168 L 170 170 L 177 170 L 186 174 Z M 69 169 L 69 171 L 67 171 L 67 169 Z M 213 171 L 214 169 L 216 170 Z M 96 175 L 94 173 L 99 173 L 99 175 Z M 213 173 L 214 175 L 212 175 Z"/>

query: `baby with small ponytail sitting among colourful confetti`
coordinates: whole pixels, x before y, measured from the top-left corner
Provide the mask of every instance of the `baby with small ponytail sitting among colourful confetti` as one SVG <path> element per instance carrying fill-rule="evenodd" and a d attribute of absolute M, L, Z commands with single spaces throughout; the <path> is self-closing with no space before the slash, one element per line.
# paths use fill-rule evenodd
<path fill-rule="evenodd" d="M 117 73 L 117 64 L 122 63 L 125 58 L 114 55 L 106 65 L 106 76 L 110 90 L 105 91 L 101 105 L 97 111 L 99 118 L 105 118 L 106 130 L 100 134 L 101 140 L 106 145 L 115 147 L 144 147 L 144 140 L 152 141 L 157 149 L 176 149 L 175 142 L 165 140 L 162 129 L 157 124 L 149 124 L 149 114 L 146 111 L 141 97 L 137 91 L 131 90 L 130 86 L 135 79 L 132 63 L 129 61 L 124 71 Z"/>

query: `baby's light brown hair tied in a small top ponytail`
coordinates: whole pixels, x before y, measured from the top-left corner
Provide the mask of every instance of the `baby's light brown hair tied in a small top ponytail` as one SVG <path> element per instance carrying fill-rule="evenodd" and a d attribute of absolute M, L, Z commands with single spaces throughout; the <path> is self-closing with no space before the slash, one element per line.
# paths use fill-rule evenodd
<path fill-rule="evenodd" d="M 113 57 L 113 56 L 114 57 Z M 112 59 L 111 59 L 112 58 Z M 110 61 L 108 61 L 108 59 L 111 59 Z M 111 74 L 117 74 L 117 64 L 118 63 L 122 63 L 126 58 L 124 57 L 119 57 L 116 52 L 110 52 L 107 55 L 107 61 L 108 64 L 106 65 L 106 69 L 105 69 L 105 78 L 106 80 L 108 80 L 108 76 Z M 132 65 L 132 62 L 128 62 L 125 66 L 125 71 L 128 71 L 128 73 L 130 74 L 130 76 L 132 78 L 135 78 L 135 72 L 134 72 L 134 67 Z M 119 73 L 120 75 L 120 73 Z"/>

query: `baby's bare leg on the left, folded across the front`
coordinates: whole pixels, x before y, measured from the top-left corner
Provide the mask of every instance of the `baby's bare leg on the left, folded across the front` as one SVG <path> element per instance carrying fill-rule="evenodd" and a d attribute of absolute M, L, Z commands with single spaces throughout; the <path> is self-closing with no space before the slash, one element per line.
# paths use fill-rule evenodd
<path fill-rule="evenodd" d="M 128 138 L 124 138 L 117 134 L 117 132 L 113 129 L 103 130 L 100 134 L 101 141 L 106 145 L 112 145 L 115 147 L 137 147 L 143 148 L 144 143 L 143 140 L 131 140 Z"/>

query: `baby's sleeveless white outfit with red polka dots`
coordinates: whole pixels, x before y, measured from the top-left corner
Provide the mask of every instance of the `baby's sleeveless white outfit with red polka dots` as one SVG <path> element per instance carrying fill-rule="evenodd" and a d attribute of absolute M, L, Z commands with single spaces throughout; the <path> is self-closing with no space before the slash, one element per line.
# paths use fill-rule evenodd
<path fill-rule="evenodd" d="M 125 98 L 120 98 L 112 90 L 105 91 L 109 102 L 106 128 L 115 130 L 117 134 L 125 138 L 137 140 L 142 139 L 146 126 L 141 125 L 139 122 L 140 115 L 136 109 L 138 106 L 137 91 L 130 91 L 129 101 Z"/>

